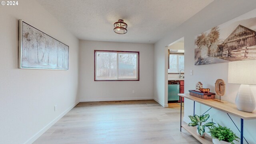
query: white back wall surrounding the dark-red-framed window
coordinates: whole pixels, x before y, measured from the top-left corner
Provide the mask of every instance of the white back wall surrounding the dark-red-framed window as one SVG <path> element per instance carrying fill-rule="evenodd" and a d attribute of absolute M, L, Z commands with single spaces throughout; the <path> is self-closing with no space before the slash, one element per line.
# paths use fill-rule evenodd
<path fill-rule="evenodd" d="M 153 44 L 80 41 L 80 101 L 153 99 L 153 49 Z M 140 81 L 95 82 L 94 50 L 139 51 Z"/>

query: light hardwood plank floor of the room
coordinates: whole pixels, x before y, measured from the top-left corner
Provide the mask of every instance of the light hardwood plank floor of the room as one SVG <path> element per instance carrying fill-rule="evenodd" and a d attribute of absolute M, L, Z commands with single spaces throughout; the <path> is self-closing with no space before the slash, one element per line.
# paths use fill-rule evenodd
<path fill-rule="evenodd" d="M 33 144 L 200 144 L 180 132 L 180 106 L 154 100 L 80 102 Z"/>

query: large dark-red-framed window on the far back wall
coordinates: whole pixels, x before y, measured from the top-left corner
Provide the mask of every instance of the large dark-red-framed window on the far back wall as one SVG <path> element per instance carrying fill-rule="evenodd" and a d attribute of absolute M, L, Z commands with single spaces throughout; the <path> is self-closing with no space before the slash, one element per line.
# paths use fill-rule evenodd
<path fill-rule="evenodd" d="M 94 50 L 95 81 L 138 81 L 140 52 Z"/>

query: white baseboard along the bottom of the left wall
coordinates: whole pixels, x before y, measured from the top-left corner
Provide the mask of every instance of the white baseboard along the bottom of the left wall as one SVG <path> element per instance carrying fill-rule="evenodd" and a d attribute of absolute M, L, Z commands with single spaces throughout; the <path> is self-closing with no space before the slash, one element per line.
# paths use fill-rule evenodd
<path fill-rule="evenodd" d="M 79 103 L 76 102 L 75 104 L 73 104 L 72 106 L 70 106 L 67 110 L 65 110 L 64 112 L 62 112 L 62 114 L 60 114 L 57 118 L 55 118 L 54 120 L 52 120 L 52 122 L 50 122 L 49 124 L 47 124 L 44 128 L 42 128 L 42 130 L 40 130 L 39 132 L 37 132 L 34 136 L 32 136 L 32 138 L 30 138 L 29 140 L 27 140 L 24 144 L 32 144 L 34 141 L 36 141 L 36 139 L 38 139 L 42 134 L 44 134 L 44 132 L 46 132 L 46 130 L 48 130 L 51 126 L 53 126 L 56 122 L 58 122 L 58 120 L 60 120 L 60 118 L 62 118 L 65 114 L 67 114 L 72 108 L 74 108 L 77 104 Z"/>

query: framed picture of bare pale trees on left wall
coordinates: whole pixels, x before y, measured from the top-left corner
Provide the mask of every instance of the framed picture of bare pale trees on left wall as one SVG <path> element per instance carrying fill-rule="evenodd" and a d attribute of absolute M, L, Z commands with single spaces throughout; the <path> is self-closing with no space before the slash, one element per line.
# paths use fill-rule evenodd
<path fill-rule="evenodd" d="M 19 20 L 18 68 L 68 70 L 69 46 Z"/>

